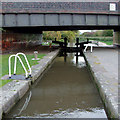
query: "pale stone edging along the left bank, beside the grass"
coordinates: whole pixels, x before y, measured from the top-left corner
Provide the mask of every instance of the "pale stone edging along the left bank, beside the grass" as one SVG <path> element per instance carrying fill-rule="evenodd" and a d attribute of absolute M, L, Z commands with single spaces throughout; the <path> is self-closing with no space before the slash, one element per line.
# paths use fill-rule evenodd
<path fill-rule="evenodd" d="M 50 52 L 39 61 L 39 64 L 32 66 L 31 80 L 13 80 L 0 88 L 0 119 L 25 95 L 32 83 L 46 70 L 58 53 L 59 50 Z"/>

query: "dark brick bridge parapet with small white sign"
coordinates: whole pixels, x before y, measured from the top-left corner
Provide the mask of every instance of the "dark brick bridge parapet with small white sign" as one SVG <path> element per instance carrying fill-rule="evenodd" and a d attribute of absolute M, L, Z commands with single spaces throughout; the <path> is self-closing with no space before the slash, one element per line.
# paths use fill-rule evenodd
<path fill-rule="evenodd" d="M 42 0 L 38 0 L 38 2 L 5 1 L 2 2 L 2 13 L 120 14 L 119 0 L 89 0 L 90 2 L 88 0 L 74 0 L 74 2 L 71 0 L 66 0 L 65 2 L 62 0 L 54 0 L 54 2 L 53 0 L 48 0 L 48 2 L 42 2 Z"/>

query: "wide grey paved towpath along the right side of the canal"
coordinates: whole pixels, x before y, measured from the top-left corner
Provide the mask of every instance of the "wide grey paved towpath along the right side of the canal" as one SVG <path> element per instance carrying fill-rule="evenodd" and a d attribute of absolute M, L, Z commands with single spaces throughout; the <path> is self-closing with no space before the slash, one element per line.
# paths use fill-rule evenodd
<path fill-rule="evenodd" d="M 85 53 L 89 68 L 98 86 L 108 114 L 120 118 L 120 50 L 112 48 L 94 48 Z M 118 79 L 119 78 L 119 79 Z M 119 95 L 118 95 L 119 94 Z"/>

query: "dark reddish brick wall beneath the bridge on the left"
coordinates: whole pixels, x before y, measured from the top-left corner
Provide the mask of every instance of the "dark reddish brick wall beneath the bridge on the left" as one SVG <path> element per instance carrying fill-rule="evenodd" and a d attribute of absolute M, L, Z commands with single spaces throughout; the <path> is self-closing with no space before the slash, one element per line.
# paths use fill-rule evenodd
<path fill-rule="evenodd" d="M 2 45 L 0 49 L 2 51 L 11 51 L 16 49 L 25 49 L 28 47 L 29 42 L 40 42 L 40 34 L 24 34 L 24 33 L 14 33 L 11 31 L 6 31 L 2 33 Z M 1 43 L 0 43 L 1 44 Z M 24 48 L 23 48 L 24 46 Z"/>

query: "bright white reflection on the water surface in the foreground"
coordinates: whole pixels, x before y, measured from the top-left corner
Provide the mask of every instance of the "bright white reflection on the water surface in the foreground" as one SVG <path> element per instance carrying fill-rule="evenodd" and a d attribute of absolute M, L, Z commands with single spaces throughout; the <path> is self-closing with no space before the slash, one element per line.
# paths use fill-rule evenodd
<path fill-rule="evenodd" d="M 46 118 L 90 118 L 90 116 L 92 116 L 92 118 L 96 118 L 96 116 L 98 118 L 104 118 L 103 113 L 105 114 L 105 111 L 99 108 L 96 109 L 92 109 L 91 111 L 84 111 L 84 110 L 80 110 L 80 109 L 76 109 L 76 110 L 64 110 L 64 111 L 59 111 L 59 110 L 55 110 L 53 114 L 38 114 L 35 115 L 38 118 L 39 117 L 46 117 Z M 49 116 L 49 117 L 48 117 Z"/>

